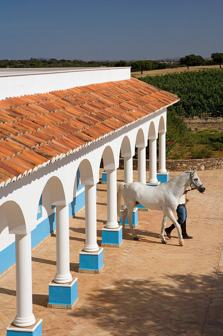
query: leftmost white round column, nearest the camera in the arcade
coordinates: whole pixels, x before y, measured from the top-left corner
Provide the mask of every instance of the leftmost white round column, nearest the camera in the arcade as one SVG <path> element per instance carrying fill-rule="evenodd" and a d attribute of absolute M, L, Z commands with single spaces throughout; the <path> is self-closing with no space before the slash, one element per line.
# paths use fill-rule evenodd
<path fill-rule="evenodd" d="M 14 325 L 17 327 L 29 327 L 36 322 L 33 315 L 31 257 L 31 232 L 27 235 L 15 235 L 16 316 Z"/>

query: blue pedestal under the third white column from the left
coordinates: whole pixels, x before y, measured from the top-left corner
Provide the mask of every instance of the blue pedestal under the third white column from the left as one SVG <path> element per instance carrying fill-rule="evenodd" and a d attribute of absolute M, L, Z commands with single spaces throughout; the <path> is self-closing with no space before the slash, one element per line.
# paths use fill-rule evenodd
<path fill-rule="evenodd" d="M 78 272 L 99 274 L 102 267 L 104 267 L 103 248 L 100 248 L 97 252 L 80 251 Z"/>

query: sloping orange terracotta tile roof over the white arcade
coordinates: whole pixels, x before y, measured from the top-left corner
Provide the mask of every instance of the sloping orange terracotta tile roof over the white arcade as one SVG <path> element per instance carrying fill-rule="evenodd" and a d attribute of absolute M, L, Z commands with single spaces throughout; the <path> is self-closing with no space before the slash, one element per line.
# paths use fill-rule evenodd
<path fill-rule="evenodd" d="M 136 78 L 2 99 L 0 185 L 178 100 Z"/>

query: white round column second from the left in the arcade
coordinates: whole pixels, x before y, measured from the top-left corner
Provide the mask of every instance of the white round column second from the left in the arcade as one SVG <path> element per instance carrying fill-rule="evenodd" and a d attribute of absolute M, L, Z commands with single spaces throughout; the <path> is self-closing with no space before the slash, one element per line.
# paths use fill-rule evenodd
<path fill-rule="evenodd" d="M 72 281 L 70 274 L 70 245 L 69 245 L 69 208 L 56 206 L 56 242 L 57 242 L 57 273 L 54 281 L 66 284 Z"/>

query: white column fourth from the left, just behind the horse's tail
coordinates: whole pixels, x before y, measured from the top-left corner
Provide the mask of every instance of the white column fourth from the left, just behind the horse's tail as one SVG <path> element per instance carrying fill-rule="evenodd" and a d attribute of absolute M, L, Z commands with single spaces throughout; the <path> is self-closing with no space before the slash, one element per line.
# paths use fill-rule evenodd
<path fill-rule="evenodd" d="M 107 170 L 107 228 L 118 227 L 117 222 L 117 172 Z"/>

